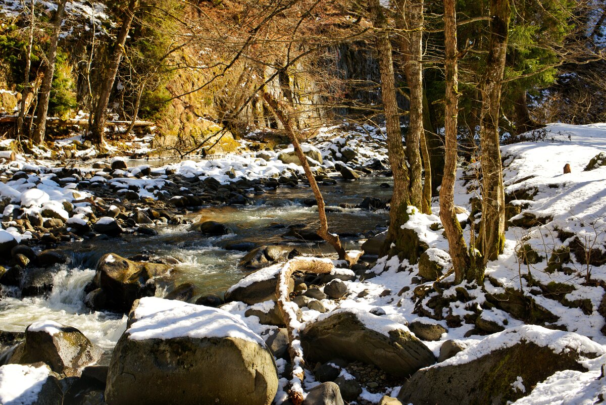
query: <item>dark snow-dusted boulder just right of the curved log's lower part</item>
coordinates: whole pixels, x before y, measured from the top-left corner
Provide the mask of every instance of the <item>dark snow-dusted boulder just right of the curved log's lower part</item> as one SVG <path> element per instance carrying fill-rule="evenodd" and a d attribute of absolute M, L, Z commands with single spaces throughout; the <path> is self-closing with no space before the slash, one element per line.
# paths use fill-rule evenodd
<path fill-rule="evenodd" d="M 362 321 L 363 320 L 363 321 Z M 376 325 L 388 335 L 370 329 Z M 363 310 L 331 312 L 301 331 L 301 345 L 311 361 L 335 357 L 375 364 L 395 377 L 407 378 L 435 363 L 435 356 L 404 325 Z"/>

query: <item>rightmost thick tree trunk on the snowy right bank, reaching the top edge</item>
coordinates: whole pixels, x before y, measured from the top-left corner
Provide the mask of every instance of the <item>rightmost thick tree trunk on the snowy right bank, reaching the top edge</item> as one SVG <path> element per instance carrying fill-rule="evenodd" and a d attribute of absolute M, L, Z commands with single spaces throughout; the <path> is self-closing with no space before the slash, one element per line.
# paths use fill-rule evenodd
<path fill-rule="evenodd" d="M 499 149 L 499 111 L 510 14 L 509 0 L 490 1 L 490 44 L 486 72 L 480 85 L 482 226 L 479 246 L 484 257 L 484 267 L 488 261 L 496 260 L 505 244 L 505 195 Z M 482 278 L 482 275 L 479 278 Z"/>

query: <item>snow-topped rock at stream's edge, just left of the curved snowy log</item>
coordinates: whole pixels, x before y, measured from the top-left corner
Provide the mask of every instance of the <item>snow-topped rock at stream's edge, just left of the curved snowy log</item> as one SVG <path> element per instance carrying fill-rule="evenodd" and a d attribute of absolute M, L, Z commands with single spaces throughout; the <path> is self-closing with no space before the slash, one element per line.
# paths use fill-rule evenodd
<path fill-rule="evenodd" d="M 280 269 L 267 267 L 242 279 L 240 283 L 232 286 L 225 293 L 225 302 L 242 301 L 248 305 L 276 300 L 276 284 Z M 244 284 L 242 284 L 244 283 Z M 295 289 L 295 280 L 288 280 L 288 292 Z"/>

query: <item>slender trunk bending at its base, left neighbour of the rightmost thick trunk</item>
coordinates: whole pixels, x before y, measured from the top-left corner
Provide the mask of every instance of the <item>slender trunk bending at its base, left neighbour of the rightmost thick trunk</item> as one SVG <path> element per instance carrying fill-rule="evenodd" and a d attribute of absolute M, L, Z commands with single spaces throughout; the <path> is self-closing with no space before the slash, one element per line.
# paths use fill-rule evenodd
<path fill-rule="evenodd" d="M 453 261 L 454 283 L 461 283 L 468 270 L 470 259 L 467 245 L 463 238 L 461 224 L 454 212 L 454 181 L 456 179 L 457 164 L 457 121 L 459 115 L 459 79 L 457 72 L 457 44 L 456 44 L 456 12 L 455 0 L 444 0 L 444 45 L 445 45 L 445 82 L 446 94 L 444 97 L 444 175 L 440 188 L 440 219 L 444 226 L 444 233 L 448 239 L 448 249 Z"/>

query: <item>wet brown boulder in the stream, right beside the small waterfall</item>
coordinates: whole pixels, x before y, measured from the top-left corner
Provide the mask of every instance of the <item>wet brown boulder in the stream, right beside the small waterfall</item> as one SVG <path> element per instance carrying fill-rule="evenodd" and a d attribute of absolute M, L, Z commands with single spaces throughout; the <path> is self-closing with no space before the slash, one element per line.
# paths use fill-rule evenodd
<path fill-rule="evenodd" d="M 108 253 L 97 263 L 96 290 L 87 296 L 87 304 L 96 310 L 128 312 L 135 300 L 154 295 L 155 278 L 170 269 L 167 264 L 131 261 Z"/>

